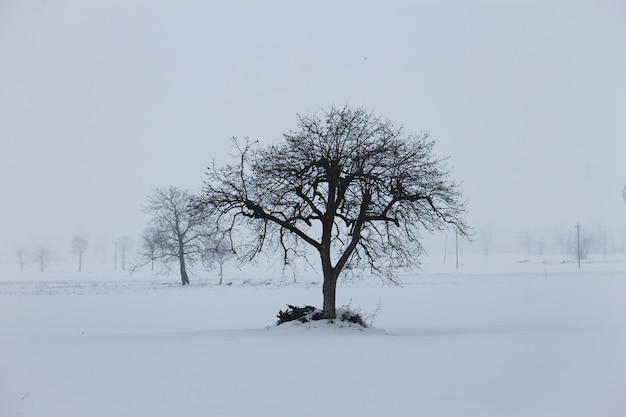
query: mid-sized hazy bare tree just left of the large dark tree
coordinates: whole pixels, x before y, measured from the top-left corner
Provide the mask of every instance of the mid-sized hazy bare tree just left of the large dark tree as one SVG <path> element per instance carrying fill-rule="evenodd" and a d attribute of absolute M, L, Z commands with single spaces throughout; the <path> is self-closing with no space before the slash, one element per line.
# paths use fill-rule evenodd
<path fill-rule="evenodd" d="M 151 256 L 166 266 L 177 262 L 183 285 L 189 284 L 187 267 L 202 259 L 207 238 L 204 219 L 189 205 L 192 198 L 176 187 L 157 188 L 145 208 L 152 216 L 149 233 L 157 237 L 158 248 Z"/>

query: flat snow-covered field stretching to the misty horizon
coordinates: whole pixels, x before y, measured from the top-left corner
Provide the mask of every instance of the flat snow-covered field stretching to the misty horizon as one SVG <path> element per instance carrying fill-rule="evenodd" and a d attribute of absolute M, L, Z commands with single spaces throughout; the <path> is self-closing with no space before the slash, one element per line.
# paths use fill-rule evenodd
<path fill-rule="evenodd" d="M 0 416 L 625 416 L 626 256 L 344 282 L 376 329 L 271 326 L 319 277 L 0 270 Z M 372 317 L 373 315 L 373 317 Z M 270 326 L 270 327 L 268 327 Z"/>

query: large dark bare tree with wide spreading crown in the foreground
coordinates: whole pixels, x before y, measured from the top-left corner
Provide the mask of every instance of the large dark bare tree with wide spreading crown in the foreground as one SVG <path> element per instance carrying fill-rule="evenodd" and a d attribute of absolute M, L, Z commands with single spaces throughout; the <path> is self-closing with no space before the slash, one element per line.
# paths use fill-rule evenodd
<path fill-rule="evenodd" d="M 212 213 L 222 233 L 253 230 L 243 260 L 267 245 L 286 265 L 307 258 L 306 248 L 317 252 L 324 318 L 336 317 L 337 280 L 347 265 L 393 282 L 394 268 L 419 263 L 420 229 L 451 227 L 468 236 L 460 184 L 450 180 L 427 134 L 406 135 L 346 107 L 323 118 L 298 116 L 298 130 L 284 140 L 253 148 L 234 139 L 235 161 L 207 170 L 196 207 Z"/>

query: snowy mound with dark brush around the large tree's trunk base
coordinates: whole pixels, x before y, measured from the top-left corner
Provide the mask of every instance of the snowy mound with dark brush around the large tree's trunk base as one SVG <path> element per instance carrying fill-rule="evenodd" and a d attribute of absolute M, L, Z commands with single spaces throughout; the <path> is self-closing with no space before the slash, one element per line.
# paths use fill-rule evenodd
<path fill-rule="evenodd" d="M 279 311 L 276 325 L 271 328 L 304 328 L 310 329 L 353 329 L 357 331 L 367 331 L 367 333 L 386 334 L 383 330 L 371 328 L 365 323 L 359 313 L 348 308 L 337 309 L 336 319 L 323 319 L 322 310 L 312 306 L 296 307 L 287 305 L 285 311 Z"/>

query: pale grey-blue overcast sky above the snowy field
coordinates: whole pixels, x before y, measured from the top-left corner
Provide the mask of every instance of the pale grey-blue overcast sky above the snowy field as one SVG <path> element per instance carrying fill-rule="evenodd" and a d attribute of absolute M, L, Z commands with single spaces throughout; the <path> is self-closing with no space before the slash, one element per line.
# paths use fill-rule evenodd
<path fill-rule="evenodd" d="M 626 2 L 0 0 L 0 250 L 136 236 L 331 105 L 430 132 L 474 226 L 626 225 Z"/>

